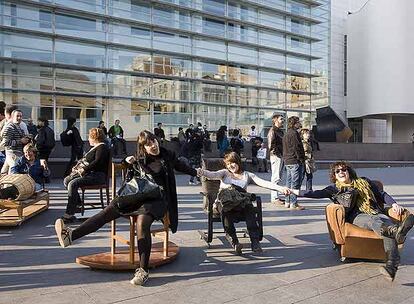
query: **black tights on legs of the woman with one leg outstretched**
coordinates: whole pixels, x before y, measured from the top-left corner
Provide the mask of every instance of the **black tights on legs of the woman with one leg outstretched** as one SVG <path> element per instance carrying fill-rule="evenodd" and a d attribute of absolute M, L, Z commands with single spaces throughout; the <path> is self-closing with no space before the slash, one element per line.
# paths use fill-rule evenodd
<path fill-rule="evenodd" d="M 78 228 L 72 231 L 72 241 L 97 231 L 106 223 L 121 216 L 114 199 L 105 209 L 87 219 Z M 148 271 L 149 258 L 151 254 L 151 224 L 154 218 L 151 215 L 140 214 L 137 218 L 137 238 L 139 252 L 139 266 Z"/>

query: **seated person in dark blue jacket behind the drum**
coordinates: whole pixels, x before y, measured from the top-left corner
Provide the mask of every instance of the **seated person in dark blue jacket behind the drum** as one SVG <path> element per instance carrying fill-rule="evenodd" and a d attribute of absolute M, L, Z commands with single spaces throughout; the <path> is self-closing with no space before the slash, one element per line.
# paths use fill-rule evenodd
<path fill-rule="evenodd" d="M 49 177 L 50 171 L 44 159 L 36 158 L 36 147 L 27 144 L 23 148 L 24 156 L 17 159 L 15 165 L 10 168 L 11 174 L 29 174 L 35 181 L 35 191 L 43 189 L 44 178 Z M 19 195 L 15 186 L 0 189 L 1 199 L 15 199 Z"/>

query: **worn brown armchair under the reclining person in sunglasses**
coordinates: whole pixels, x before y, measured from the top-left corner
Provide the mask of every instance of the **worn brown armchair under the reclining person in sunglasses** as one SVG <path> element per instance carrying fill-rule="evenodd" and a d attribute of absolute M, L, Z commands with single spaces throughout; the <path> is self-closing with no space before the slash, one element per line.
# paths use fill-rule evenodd
<path fill-rule="evenodd" d="M 382 184 L 377 182 L 382 188 Z M 388 216 L 396 222 L 407 217 L 410 212 L 405 209 L 401 216 L 395 214 L 391 208 L 387 209 Z M 360 228 L 345 222 L 345 209 L 338 204 L 326 206 L 326 222 L 333 246 L 338 249 L 341 261 L 346 258 L 358 258 L 369 260 L 385 260 L 385 252 L 382 238 L 374 231 Z M 403 245 L 399 245 L 401 249 Z"/>

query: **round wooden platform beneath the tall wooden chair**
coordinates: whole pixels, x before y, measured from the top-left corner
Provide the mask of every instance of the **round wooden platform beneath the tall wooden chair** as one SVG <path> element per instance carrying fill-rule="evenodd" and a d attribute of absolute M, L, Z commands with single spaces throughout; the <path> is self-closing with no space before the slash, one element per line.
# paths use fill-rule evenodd
<path fill-rule="evenodd" d="M 174 261 L 180 248 L 173 242 L 169 242 L 169 256 L 163 256 L 162 243 L 152 244 L 149 267 L 154 268 Z M 129 262 L 128 250 L 119 250 L 114 256 L 111 252 L 97 253 L 76 258 L 76 263 L 93 269 L 104 270 L 135 270 L 139 267 L 139 255 L 135 252 L 135 263 Z"/>

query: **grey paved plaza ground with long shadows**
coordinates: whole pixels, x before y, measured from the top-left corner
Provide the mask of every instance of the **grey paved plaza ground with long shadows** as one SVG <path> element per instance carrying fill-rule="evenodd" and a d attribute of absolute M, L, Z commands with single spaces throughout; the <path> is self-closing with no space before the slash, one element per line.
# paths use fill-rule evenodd
<path fill-rule="evenodd" d="M 413 168 L 359 173 L 381 179 L 401 204 L 414 209 Z M 200 240 L 197 230 L 206 225 L 200 187 L 186 186 L 185 176 L 177 179 L 181 221 L 172 240 L 180 256 L 152 270 L 147 286 L 130 285 L 131 272 L 93 271 L 75 263 L 77 256 L 108 250 L 109 226 L 69 248 L 58 247 L 53 222 L 63 212 L 66 193 L 54 183 L 50 210 L 20 228 L 0 229 L 0 303 L 414 303 L 413 234 L 390 283 L 378 263 L 339 262 L 324 220 L 326 201 L 303 201 L 307 210 L 289 211 L 268 203 L 268 191 L 252 187 L 266 202 L 264 253 L 234 256 L 221 237 L 210 249 Z M 318 171 L 315 188 L 327 183 L 327 172 Z"/>

